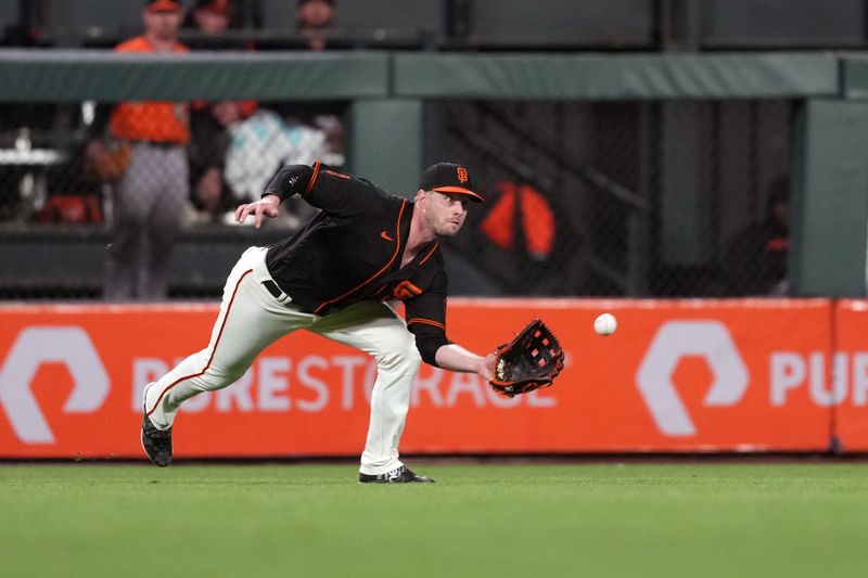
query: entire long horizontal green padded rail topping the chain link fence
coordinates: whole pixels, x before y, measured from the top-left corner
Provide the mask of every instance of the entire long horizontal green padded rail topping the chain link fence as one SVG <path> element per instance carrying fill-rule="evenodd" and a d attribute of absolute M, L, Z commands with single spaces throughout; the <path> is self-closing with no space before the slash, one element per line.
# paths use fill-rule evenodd
<path fill-rule="evenodd" d="M 0 50 L 0 102 L 731 99 L 839 92 L 831 53 L 474 54 Z"/>

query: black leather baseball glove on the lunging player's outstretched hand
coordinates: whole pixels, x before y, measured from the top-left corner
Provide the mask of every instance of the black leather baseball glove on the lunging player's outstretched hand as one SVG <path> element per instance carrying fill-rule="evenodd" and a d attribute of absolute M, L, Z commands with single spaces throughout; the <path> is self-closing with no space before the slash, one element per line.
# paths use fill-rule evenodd
<path fill-rule="evenodd" d="M 563 369 L 563 349 L 539 319 L 531 321 L 511 342 L 495 351 L 495 391 L 513 397 L 548 387 Z"/>

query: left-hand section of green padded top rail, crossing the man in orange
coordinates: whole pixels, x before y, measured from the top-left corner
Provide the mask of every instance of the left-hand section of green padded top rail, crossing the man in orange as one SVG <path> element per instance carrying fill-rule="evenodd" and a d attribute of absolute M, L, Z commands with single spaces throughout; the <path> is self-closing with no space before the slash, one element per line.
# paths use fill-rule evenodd
<path fill-rule="evenodd" d="M 256 99 L 349 100 L 388 90 L 383 52 L 0 50 L 0 102 Z"/>

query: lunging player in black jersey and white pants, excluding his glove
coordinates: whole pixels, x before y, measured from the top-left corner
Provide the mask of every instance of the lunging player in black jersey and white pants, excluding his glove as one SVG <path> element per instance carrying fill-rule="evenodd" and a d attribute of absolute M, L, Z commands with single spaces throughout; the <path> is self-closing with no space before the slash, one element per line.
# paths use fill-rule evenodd
<path fill-rule="evenodd" d="M 494 355 L 481 357 L 446 336 L 447 281 L 439 239 L 461 229 L 469 202 L 483 198 L 468 170 L 438 163 L 422 175 L 411 202 L 370 181 L 312 167 L 283 167 L 260 200 L 235 219 L 276 217 L 301 195 L 320 213 L 270 247 L 251 247 L 227 279 L 208 346 L 144 389 L 142 446 L 158 466 L 171 462 L 171 427 L 181 403 L 241 377 L 268 345 L 307 330 L 352 345 L 376 360 L 360 483 L 434 481 L 398 457 L 421 361 L 493 377 Z M 406 305 L 406 321 L 390 307 Z"/>

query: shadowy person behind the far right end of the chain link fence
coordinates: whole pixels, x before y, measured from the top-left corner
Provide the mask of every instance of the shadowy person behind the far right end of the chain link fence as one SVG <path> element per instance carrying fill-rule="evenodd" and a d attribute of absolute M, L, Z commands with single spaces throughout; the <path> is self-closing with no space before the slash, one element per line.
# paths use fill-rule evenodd
<path fill-rule="evenodd" d="M 729 294 L 784 296 L 790 246 L 790 182 L 773 181 L 765 218 L 740 232 L 726 257 Z"/>

